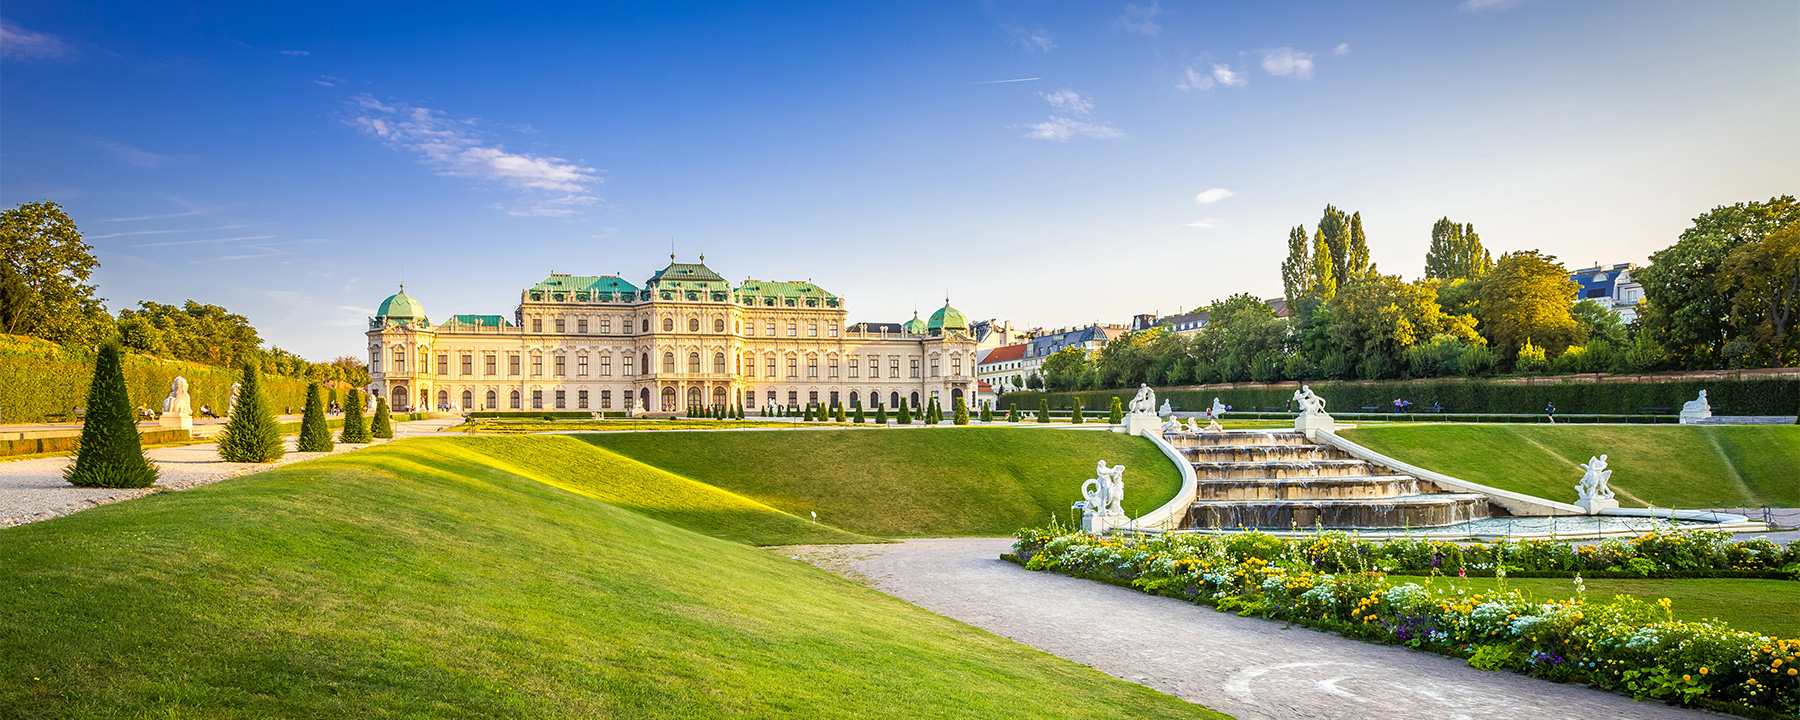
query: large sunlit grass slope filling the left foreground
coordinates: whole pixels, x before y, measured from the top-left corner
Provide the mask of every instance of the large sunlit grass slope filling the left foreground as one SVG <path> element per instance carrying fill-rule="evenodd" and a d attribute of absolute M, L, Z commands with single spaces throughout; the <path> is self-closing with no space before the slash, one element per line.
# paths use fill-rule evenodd
<path fill-rule="evenodd" d="M 454 443 L 11 527 L 0 558 L 20 718 L 1217 716 Z"/>

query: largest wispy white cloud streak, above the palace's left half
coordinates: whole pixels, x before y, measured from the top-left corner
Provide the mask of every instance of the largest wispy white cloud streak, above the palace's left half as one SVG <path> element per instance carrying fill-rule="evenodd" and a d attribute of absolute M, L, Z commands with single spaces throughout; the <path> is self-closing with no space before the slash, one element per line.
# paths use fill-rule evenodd
<path fill-rule="evenodd" d="M 394 149 L 409 149 L 439 175 L 479 178 L 522 194 L 518 216 L 567 216 L 594 205 L 590 187 L 601 178 L 594 167 L 533 153 L 509 153 L 486 140 L 473 121 L 454 121 L 443 112 L 405 103 L 382 103 L 369 94 L 353 97 L 353 128 Z"/>

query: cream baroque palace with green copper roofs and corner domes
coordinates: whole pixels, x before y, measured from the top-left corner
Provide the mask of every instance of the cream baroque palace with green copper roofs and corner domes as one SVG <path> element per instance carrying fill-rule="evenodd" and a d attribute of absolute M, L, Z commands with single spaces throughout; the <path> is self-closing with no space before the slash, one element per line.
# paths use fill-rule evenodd
<path fill-rule="evenodd" d="M 679 412 L 810 403 L 972 401 L 976 340 L 945 302 L 931 320 L 846 322 L 844 299 L 812 283 L 733 286 L 675 263 L 643 288 L 614 275 L 551 274 L 513 319 L 425 317 L 400 293 L 369 319 L 371 391 L 396 409 Z"/>

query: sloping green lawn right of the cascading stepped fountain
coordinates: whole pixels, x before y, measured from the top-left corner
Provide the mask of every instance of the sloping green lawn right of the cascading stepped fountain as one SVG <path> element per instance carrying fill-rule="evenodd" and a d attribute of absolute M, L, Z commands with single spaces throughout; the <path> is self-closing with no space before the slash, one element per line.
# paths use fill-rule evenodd
<path fill-rule="evenodd" d="M 1793 425 L 1388 425 L 1345 437 L 1487 486 L 1575 500 L 1580 463 L 1606 454 L 1624 506 L 1800 506 Z"/>

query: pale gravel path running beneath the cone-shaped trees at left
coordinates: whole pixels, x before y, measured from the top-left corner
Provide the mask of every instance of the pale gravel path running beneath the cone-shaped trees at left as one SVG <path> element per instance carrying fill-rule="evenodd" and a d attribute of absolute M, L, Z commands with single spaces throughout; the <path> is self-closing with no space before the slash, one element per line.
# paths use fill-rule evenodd
<path fill-rule="evenodd" d="M 418 419 L 410 423 L 394 423 L 394 439 L 432 434 L 455 423 L 459 423 L 459 419 Z M 104 506 L 108 502 L 131 500 L 149 493 L 198 488 L 227 477 L 274 470 L 283 464 L 367 446 L 338 443 L 329 454 L 293 452 L 295 439 L 297 437 L 286 439 L 288 454 L 283 455 L 279 463 L 272 464 L 225 463 L 220 459 L 218 443 L 149 448 L 144 454 L 157 463 L 157 468 L 162 473 L 157 477 L 155 488 L 137 490 L 70 486 L 63 481 L 63 468 L 68 466 L 68 463 L 74 463 L 74 457 L 36 457 L 0 463 L 0 527 L 49 520 L 88 508 Z"/>

